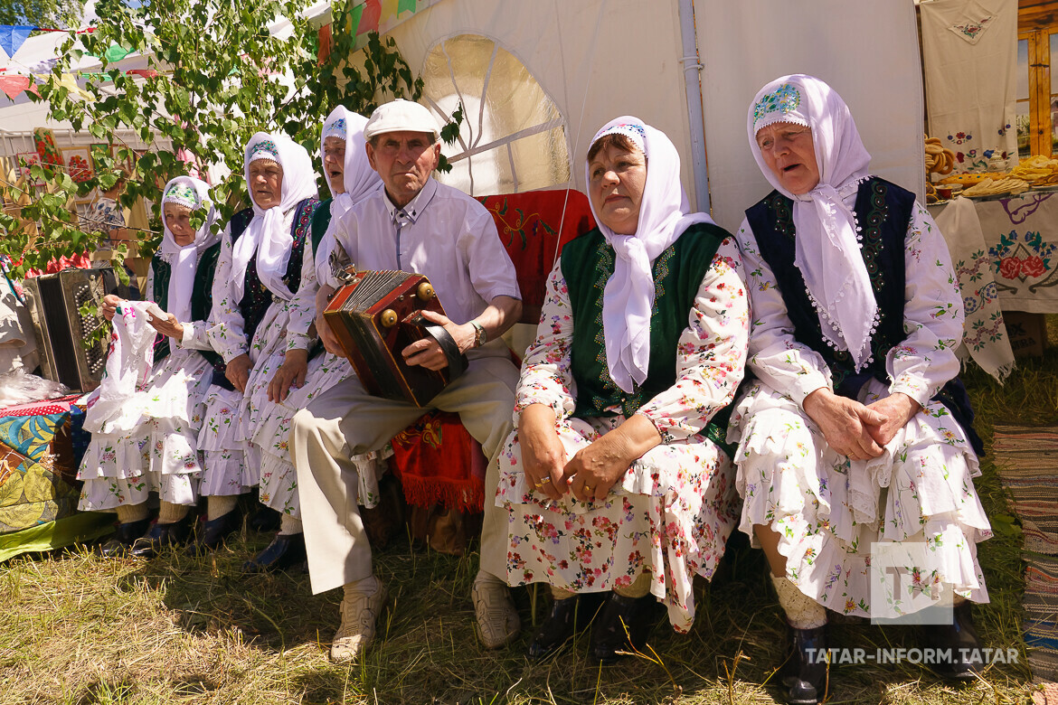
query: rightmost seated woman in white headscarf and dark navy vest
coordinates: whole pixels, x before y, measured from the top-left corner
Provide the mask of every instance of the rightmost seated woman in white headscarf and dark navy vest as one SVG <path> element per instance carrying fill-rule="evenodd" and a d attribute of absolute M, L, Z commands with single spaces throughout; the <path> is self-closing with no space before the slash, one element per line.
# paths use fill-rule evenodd
<path fill-rule="evenodd" d="M 790 701 L 823 695 L 825 663 L 805 654 L 826 648 L 824 608 L 896 616 L 953 595 L 954 624 L 929 634 L 956 658 L 936 670 L 972 679 L 959 648 L 977 643 L 965 599 L 988 600 L 977 543 L 990 531 L 955 377 L 963 307 L 947 246 L 913 193 L 870 174 L 847 107 L 818 78 L 762 88 L 748 132 L 776 190 L 737 234 L 755 381 L 729 440 L 741 528 L 767 554 L 792 629 Z M 897 590 L 875 557 L 888 605 L 871 599 L 873 542 L 902 542 L 895 564 L 914 565 L 911 591 Z"/>

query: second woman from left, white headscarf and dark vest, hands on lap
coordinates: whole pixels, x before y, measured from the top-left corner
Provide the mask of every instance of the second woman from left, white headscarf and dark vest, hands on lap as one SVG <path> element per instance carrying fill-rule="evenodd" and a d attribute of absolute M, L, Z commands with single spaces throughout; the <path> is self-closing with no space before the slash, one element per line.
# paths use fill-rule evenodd
<path fill-rule="evenodd" d="M 277 370 L 295 386 L 308 372 L 314 308 L 299 305 L 295 294 L 320 200 L 312 159 L 286 135 L 254 134 L 243 171 L 253 205 L 227 224 L 213 290 L 209 339 L 227 364 L 226 384 L 211 390 L 199 439 L 207 450 L 201 494 L 209 501 L 195 551 L 216 548 L 238 527 L 236 500 L 259 485 L 261 503 L 281 514 L 280 534 L 264 551 L 268 560 L 258 556 L 244 568 L 279 570 L 305 559 L 299 515 L 288 511 L 294 487 L 260 472 L 260 448 L 251 440 Z"/>

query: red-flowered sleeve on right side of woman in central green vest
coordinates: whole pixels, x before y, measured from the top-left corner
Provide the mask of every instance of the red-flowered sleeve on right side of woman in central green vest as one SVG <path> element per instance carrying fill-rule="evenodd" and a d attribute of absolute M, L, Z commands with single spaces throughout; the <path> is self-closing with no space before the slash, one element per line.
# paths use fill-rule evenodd
<path fill-rule="evenodd" d="M 727 237 L 701 279 L 688 327 L 679 336 L 676 384 L 636 413 L 650 419 L 665 443 L 700 433 L 734 397 L 748 344 L 749 299 L 742 257 L 734 238 Z"/>

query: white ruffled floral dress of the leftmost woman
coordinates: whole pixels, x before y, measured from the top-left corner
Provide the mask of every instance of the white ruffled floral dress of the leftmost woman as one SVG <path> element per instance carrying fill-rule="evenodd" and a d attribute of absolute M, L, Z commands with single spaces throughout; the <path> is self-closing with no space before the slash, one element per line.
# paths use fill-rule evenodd
<path fill-rule="evenodd" d="M 171 264 L 171 255 L 156 257 Z M 154 267 L 146 291 L 154 291 Z M 143 423 L 115 438 L 93 437 L 78 475 L 85 480 L 81 509 L 140 504 L 151 490 L 172 504 L 197 501 L 202 470 L 198 434 L 213 379 L 213 366 L 197 352 L 211 349 L 206 330 L 205 321 L 186 321 L 183 339 L 170 340 L 172 352 L 154 364 L 136 394 Z"/>

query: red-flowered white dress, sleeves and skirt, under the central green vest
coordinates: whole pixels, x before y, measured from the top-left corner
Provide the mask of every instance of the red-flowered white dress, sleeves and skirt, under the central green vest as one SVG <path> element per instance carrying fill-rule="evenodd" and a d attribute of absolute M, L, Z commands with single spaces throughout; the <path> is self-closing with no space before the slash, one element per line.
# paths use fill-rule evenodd
<path fill-rule="evenodd" d="M 738 513 L 731 462 L 703 433 L 742 379 L 749 324 L 742 273 L 737 247 L 727 238 L 679 337 L 676 384 L 636 412 L 651 420 L 662 443 L 636 461 L 605 498 L 584 503 L 566 495 L 553 502 L 534 493 L 521 466 L 517 433 L 508 439 L 496 501 L 510 512 L 510 585 L 546 581 L 601 592 L 650 572 L 651 592 L 668 607 L 673 628 L 691 628 L 694 576 L 712 576 Z M 514 419 L 516 425 L 531 404 L 551 407 L 568 457 L 625 420 L 571 416 L 572 335 L 560 264 L 548 279 L 536 340 L 526 352 Z"/>

